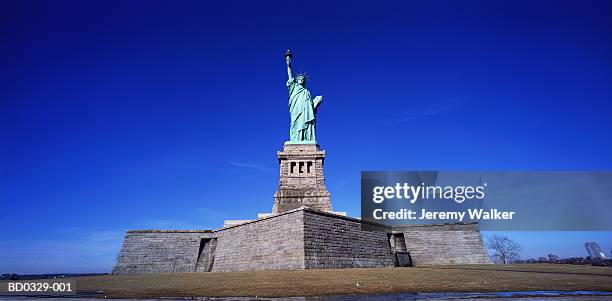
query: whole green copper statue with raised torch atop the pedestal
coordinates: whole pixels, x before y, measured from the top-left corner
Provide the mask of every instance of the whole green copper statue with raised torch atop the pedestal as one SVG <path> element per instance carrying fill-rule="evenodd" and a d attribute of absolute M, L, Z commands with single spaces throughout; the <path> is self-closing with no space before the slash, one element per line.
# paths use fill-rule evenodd
<path fill-rule="evenodd" d="M 290 141 L 288 143 L 316 144 L 315 127 L 317 107 L 323 101 L 323 96 L 312 98 L 306 89 L 306 77 L 298 74 L 293 77 L 291 70 L 291 51 L 285 53 L 287 62 L 287 89 L 289 90 L 289 112 L 291 113 Z"/>

